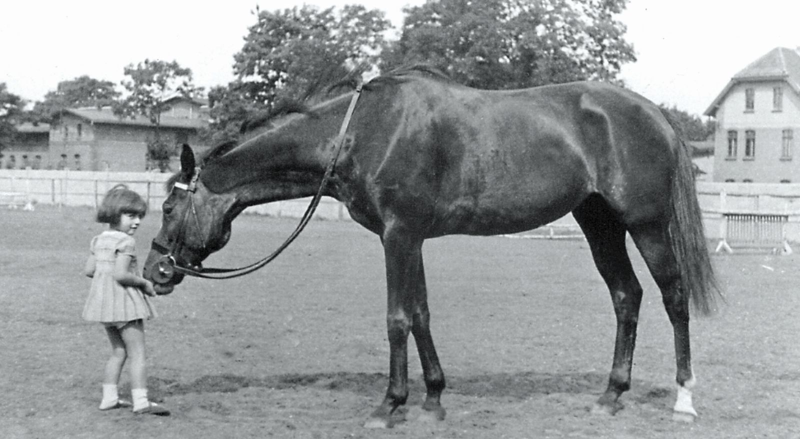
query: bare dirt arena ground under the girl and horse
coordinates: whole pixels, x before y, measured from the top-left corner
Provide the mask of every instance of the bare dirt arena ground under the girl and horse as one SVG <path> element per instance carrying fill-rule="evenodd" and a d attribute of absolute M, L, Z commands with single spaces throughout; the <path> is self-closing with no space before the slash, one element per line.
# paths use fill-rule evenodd
<path fill-rule="evenodd" d="M 583 241 L 443 237 L 425 245 L 431 328 L 447 377 L 442 422 L 416 419 L 411 341 L 405 422 L 367 430 L 387 384 L 378 238 L 313 221 L 281 257 L 228 281 L 187 279 L 146 322 L 150 395 L 171 417 L 100 412 L 105 333 L 81 320 L 93 210 L 0 210 L 2 438 L 800 437 L 798 257 L 714 257 L 727 305 L 692 322 L 694 424 L 671 421 L 672 329 L 645 287 L 633 388 L 614 417 L 606 387 L 614 311 Z M 136 235 L 143 261 L 159 214 Z M 294 221 L 241 217 L 207 266 L 246 265 Z M 413 340 L 413 339 L 412 339 Z M 126 372 L 122 393 L 128 392 Z"/>

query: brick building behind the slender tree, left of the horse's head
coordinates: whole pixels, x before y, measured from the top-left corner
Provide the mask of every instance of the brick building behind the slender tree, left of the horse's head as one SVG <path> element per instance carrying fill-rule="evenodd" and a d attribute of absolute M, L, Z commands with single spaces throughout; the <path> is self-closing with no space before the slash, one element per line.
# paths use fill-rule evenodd
<path fill-rule="evenodd" d="M 175 97 L 166 101 L 159 135 L 169 145 L 189 143 L 195 150 L 200 130 L 208 126 L 208 106 L 197 99 Z M 109 107 L 62 110 L 50 126 L 47 160 L 52 169 L 145 171 L 154 168 L 147 160 L 147 143 L 154 138 L 148 118 L 120 118 Z M 171 165 L 178 169 L 177 157 Z"/>

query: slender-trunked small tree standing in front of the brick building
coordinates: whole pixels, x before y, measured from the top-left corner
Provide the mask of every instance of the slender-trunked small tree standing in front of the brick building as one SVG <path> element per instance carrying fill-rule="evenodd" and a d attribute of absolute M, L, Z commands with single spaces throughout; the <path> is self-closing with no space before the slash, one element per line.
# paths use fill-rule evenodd
<path fill-rule="evenodd" d="M 202 92 L 192 84 L 192 71 L 178 62 L 146 59 L 125 68 L 130 79 L 122 81 L 128 92 L 126 98 L 114 104 L 114 114 L 121 118 L 144 116 L 153 124 L 153 138 L 147 142 L 147 161 L 158 166 L 162 172 L 170 170 L 170 158 L 175 154 L 174 146 L 161 138 L 161 114 L 170 109 L 168 98 L 181 94 L 187 98 Z"/>

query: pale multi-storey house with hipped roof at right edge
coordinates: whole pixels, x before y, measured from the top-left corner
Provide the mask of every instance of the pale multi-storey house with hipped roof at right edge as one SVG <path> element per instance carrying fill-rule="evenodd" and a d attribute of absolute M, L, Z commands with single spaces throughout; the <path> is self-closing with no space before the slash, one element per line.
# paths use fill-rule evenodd
<path fill-rule="evenodd" d="M 715 182 L 800 183 L 798 50 L 778 47 L 750 63 L 704 113 L 717 119 Z"/>

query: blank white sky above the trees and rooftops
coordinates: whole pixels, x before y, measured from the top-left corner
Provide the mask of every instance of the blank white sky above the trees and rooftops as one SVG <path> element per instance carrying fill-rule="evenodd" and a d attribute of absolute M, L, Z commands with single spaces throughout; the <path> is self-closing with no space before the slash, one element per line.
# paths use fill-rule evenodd
<path fill-rule="evenodd" d="M 177 61 L 196 86 L 233 80 L 251 13 L 299 6 L 361 3 L 402 25 L 402 7 L 426 0 L 71 0 L 7 2 L 0 26 L 0 82 L 28 101 L 58 82 L 89 75 L 115 83 L 146 58 Z M 800 46 L 797 0 L 630 0 L 619 19 L 638 61 L 620 78 L 656 103 L 702 115 L 730 78 L 775 47 Z"/>

